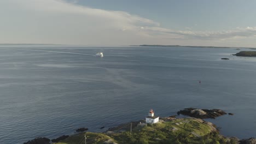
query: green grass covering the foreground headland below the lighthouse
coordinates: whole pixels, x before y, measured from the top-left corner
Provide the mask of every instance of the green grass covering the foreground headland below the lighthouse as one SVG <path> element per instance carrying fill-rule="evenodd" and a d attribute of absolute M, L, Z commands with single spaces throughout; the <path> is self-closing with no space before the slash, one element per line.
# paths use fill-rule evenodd
<path fill-rule="evenodd" d="M 176 124 L 182 123 L 182 124 Z M 180 118 L 170 122 L 148 124 L 146 127 L 136 127 L 122 133 L 90 133 L 86 132 L 86 143 L 226 143 L 218 132 L 212 131 L 212 126 L 196 118 Z M 76 134 L 56 144 L 84 143 L 85 133 Z"/>

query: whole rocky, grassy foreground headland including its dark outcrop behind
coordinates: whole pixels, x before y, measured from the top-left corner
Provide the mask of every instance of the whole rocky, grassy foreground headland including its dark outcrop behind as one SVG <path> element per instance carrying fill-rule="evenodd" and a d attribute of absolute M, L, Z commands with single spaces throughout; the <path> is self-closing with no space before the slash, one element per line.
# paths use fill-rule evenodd
<path fill-rule="evenodd" d="M 187 108 L 178 111 L 177 114 L 189 115 L 192 117 L 176 118 L 157 117 L 154 111 L 149 111 L 146 119 L 137 122 L 129 122 L 109 128 L 104 133 L 92 133 L 89 131 L 77 133 L 71 136 L 63 135 L 51 140 L 53 144 L 118 144 L 118 143 L 209 143 L 209 144 L 253 144 L 256 139 L 250 138 L 239 140 L 236 137 L 225 137 L 219 134 L 219 130 L 211 122 L 206 122 L 200 118 L 215 118 L 226 115 L 219 109 L 195 109 Z M 229 114 L 230 115 L 230 114 Z M 200 118 L 197 118 L 200 117 Z M 149 119 L 147 119 L 149 118 Z M 157 121 L 150 119 L 157 118 Z M 158 119 L 159 118 L 159 119 Z M 79 129 L 80 130 L 80 129 Z M 83 128 L 82 131 L 88 130 Z M 50 144 L 50 139 L 38 137 L 24 144 Z"/>

